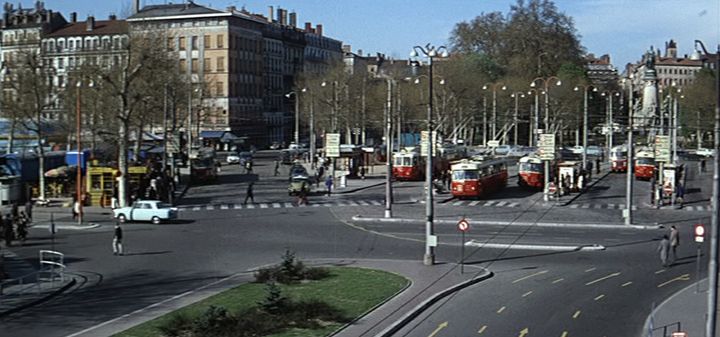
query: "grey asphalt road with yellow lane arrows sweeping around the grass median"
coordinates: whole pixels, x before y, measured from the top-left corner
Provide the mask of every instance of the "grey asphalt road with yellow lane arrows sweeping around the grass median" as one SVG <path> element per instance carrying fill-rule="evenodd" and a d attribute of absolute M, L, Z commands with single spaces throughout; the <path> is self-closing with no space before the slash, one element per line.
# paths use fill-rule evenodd
<path fill-rule="evenodd" d="M 61 232 L 55 249 L 66 254 L 70 269 L 83 282 L 43 306 L 5 318 L 0 322 L 0 334 L 69 336 L 225 276 L 279 262 L 285 249 L 306 260 L 421 259 L 422 225 L 351 221 L 355 215 L 382 215 L 383 187 L 329 198 L 311 196 L 311 204 L 320 207 L 286 205 L 292 202 L 286 192 L 287 177 L 272 175 L 274 159 L 273 153 L 260 153 L 253 175 L 238 166 L 223 166 L 218 183 L 188 191 L 182 201 L 188 208 L 175 223 L 125 225 L 126 256 L 111 253 L 110 221 L 97 229 Z M 704 179 L 708 176 L 698 177 L 698 188 Z M 268 208 L 199 207 L 241 203 L 251 180 L 256 181 L 256 201 Z M 399 203 L 393 205 L 394 215 L 422 219 L 422 183 L 402 182 L 395 187 L 394 198 Z M 709 213 L 640 206 L 636 212 L 640 220 L 675 224 L 682 232 L 681 259 L 667 270 L 661 268 L 655 253 L 655 240 L 666 230 L 542 226 L 552 222 L 620 223 L 620 209 L 581 206 L 600 201 L 620 204 L 620 191 L 624 192 L 624 176 L 609 175 L 597 189 L 558 207 L 545 204 L 540 193 L 521 190 L 511 181 L 508 188 L 487 200 L 437 204 L 438 219 L 466 216 L 510 223 L 471 224 L 466 237 L 474 242 L 466 247 L 467 270 L 483 266 L 496 275 L 439 303 L 398 336 L 475 336 L 481 330 L 491 336 L 521 336 L 525 328 L 526 336 L 562 336 L 565 331 L 566 337 L 639 335 L 653 302 L 659 303 L 697 278 L 690 230 Z M 641 188 L 636 191 L 637 198 L 642 198 Z M 701 203 L 706 192 L 697 191 L 693 198 Z M 455 227 L 437 225 L 436 231 L 438 261 L 459 261 L 461 236 Z M 50 248 L 51 243 L 43 229 L 31 230 L 30 238 L 15 252 L 33 263 L 37 250 Z M 536 247 L 497 248 L 507 244 Z M 539 248 L 576 245 L 606 249 L 568 252 Z"/>

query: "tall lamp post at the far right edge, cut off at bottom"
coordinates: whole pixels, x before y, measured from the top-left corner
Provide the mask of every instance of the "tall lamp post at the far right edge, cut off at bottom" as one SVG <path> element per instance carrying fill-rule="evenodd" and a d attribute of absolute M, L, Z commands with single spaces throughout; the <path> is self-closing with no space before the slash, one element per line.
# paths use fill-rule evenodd
<path fill-rule="evenodd" d="M 691 59 L 699 60 L 700 51 L 697 46 L 702 47 L 705 55 L 708 56 L 705 45 L 700 40 L 695 40 L 695 52 Z M 713 194 L 712 194 L 712 218 L 710 224 L 710 259 L 708 261 L 708 310 L 705 315 L 705 336 L 713 337 L 717 331 L 715 313 L 717 312 L 718 300 L 718 218 L 720 217 L 720 44 L 715 54 L 715 139 L 713 155 Z"/>

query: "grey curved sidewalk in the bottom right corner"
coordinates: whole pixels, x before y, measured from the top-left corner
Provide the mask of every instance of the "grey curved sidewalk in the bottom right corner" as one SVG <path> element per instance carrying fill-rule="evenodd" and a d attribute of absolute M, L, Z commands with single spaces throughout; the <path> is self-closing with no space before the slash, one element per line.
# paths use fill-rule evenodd
<path fill-rule="evenodd" d="M 707 279 L 687 286 L 660 303 L 645 320 L 642 337 L 665 337 L 672 332 L 684 331 L 688 336 L 705 336 L 707 312 Z M 716 313 L 717 314 L 717 313 Z M 652 324 L 653 333 L 649 334 Z M 667 333 L 663 336 L 663 331 Z"/>

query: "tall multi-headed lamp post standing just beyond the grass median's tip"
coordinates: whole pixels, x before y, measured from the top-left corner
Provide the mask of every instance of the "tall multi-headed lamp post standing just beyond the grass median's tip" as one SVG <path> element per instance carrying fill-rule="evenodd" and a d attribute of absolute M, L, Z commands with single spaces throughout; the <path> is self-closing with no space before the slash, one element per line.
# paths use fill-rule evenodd
<path fill-rule="evenodd" d="M 435 57 L 448 57 L 448 50 L 445 46 L 435 47 L 429 43 L 425 47 L 415 46 L 413 47 L 410 57 L 414 58 L 418 56 L 418 52 L 422 53 L 428 58 L 428 111 L 427 111 L 427 131 L 428 131 L 428 146 L 427 146 L 427 160 L 425 166 L 425 185 L 426 185 L 426 199 L 425 199 L 425 256 L 423 257 L 423 264 L 433 265 L 435 264 L 435 246 L 437 245 L 437 239 L 434 236 L 433 229 L 433 191 L 432 191 L 432 173 L 433 173 L 433 58 Z M 440 53 L 438 55 L 438 53 Z"/>

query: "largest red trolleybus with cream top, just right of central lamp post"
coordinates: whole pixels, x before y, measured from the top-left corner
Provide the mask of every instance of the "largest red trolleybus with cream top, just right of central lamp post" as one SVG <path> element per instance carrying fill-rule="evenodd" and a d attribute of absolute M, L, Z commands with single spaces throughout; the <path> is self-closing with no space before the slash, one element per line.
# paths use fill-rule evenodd
<path fill-rule="evenodd" d="M 462 160 L 451 166 L 451 191 L 457 198 L 480 198 L 507 185 L 507 167 L 500 159 Z"/>

